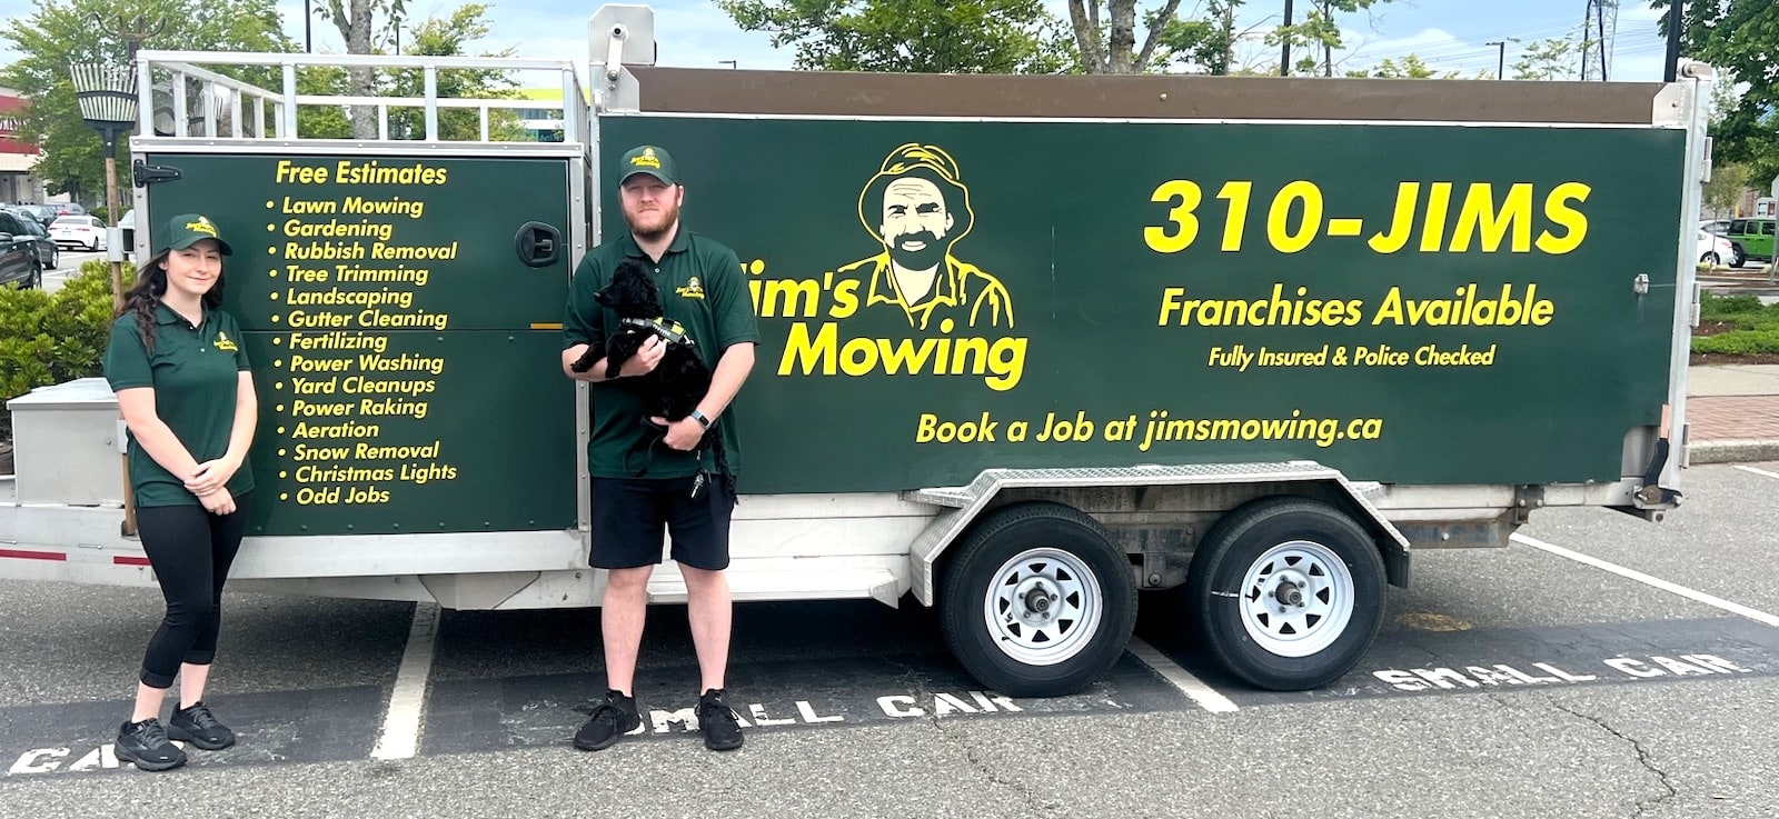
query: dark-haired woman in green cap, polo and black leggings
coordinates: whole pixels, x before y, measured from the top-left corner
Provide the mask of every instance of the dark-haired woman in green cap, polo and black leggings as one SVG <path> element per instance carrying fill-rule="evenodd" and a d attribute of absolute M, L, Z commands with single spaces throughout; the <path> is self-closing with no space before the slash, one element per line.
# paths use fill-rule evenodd
<path fill-rule="evenodd" d="M 189 213 L 173 217 L 155 247 L 105 350 L 105 378 L 130 426 L 137 531 L 167 599 L 142 657 L 135 714 L 117 730 L 117 757 L 144 771 L 185 764 L 174 739 L 203 750 L 235 744 L 203 698 L 222 581 L 247 531 L 258 412 L 240 327 L 217 309 L 228 242 Z M 164 727 L 160 705 L 174 677 L 180 704 Z"/>

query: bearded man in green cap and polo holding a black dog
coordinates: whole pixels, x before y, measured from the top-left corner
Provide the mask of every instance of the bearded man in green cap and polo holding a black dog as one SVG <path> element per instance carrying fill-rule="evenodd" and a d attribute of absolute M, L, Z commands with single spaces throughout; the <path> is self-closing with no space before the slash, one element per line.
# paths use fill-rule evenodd
<path fill-rule="evenodd" d="M 672 538 L 672 560 L 685 577 L 692 641 L 703 675 L 697 720 L 704 746 L 742 746 L 735 711 L 724 700 L 729 656 L 729 510 L 735 496 L 713 474 L 715 458 L 701 448 L 708 428 L 722 435 L 728 467 L 740 469 L 742 449 L 735 423 L 724 410 L 754 366 L 760 327 L 735 250 L 687 231 L 680 224 L 685 188 L 672 156 L 656 146 L 626 153 L 617 165 L 619 199 L 630 231 L 594 247 L 575 270 L 568 314 L 562 323 L 566 348 L 562 371 L 592 384 L 592 437 L 587 469 L 592 474 L 592 553 L 589 561 L 607 569 L 600 622 L 605 632 L 607 696 L 575 734 L 582 750 L 610 748 L 642 725 L 633 677 L 642 647 L 648 583 L 662 560 L 662 531 Z M 624 259 L 653 272 L 667 320 L 678 320 L 712 364 L 710 391 L 690 416 L 667 423 L 648 419 L 639 375 L 662 361 L 665 345 L 651 336 L 635 357 L 607 378 L 600 359 L 585 373 L 571 364 L 594 341 L 619 327 L 617 316 L 594 300 Z M 644 425 L 651 421 L 651 425 Z M 665 428 L 665 432 L 662 430 Z"/>

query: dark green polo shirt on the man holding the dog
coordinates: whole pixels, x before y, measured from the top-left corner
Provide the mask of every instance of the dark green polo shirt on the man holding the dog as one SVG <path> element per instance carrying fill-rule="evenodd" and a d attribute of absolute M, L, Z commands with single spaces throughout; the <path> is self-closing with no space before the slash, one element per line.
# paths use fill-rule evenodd
<path fill-rule="evenodd" d="M 617 313 L 592 298 L 612 279 L 624 259 L 649 266 L 662 291 L 665 318 L 685 325 L 699 355 L 712 371 L 731 345 L 760 341 L 760 323 L 754 304 L 742 281 L 742 266 L 722 243 L 687 231 L 683 226 L 667 245 L 660 261 L 637 247 L 630 231 L 594 247 L 575 268 L 568 291 L 568 311 L 562 320 L 562 348 L 603 341 L 617 327 Z M 616 378 L 592 384 L 592 437 L 587 442 L 587 469 L 596 478 L 685 478 L 697 473 L 692 453 L 669 449 L 655 442 L 660 430 L 644 426 L 649 410 L 646 394 L 637 389 L 637 378 Z M 715 417 L 722 435 L 729 471 L 742 469 L 742 444 L 735 412 Z M 653 446 L 651 446 L 653 444 Z M 715 471 L 712 453 L 704 453 L 704 469 Z"/>

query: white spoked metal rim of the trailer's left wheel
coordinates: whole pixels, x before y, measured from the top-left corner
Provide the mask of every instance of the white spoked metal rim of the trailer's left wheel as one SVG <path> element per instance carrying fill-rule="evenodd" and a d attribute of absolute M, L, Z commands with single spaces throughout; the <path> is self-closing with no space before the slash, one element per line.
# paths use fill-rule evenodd
<path fill-rule="evenodd" d="M 1014 661 L 1053 666 L 1075 657 L 1099 632 L 1099 577 L 1062 549 L 1028 549 L 1000 565 L 982 595 L 982 622 Z"/>

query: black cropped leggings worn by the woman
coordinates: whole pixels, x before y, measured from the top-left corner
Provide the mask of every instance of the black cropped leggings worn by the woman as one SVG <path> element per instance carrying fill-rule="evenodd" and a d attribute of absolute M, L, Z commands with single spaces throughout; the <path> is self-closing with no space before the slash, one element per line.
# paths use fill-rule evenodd
<path fill-rule="evenodd" d="M 217 656 L 222 581 L 247 533 L 247 497 L 235 497 L 231 515 L 212 515 L 203 506 L 142 506 L 135 522 L 167 599 L 167 616 L 142 657 L 142 684 L 171 688 L 180 663 L 208 666 Z"/>

